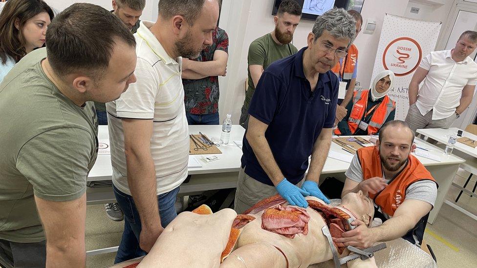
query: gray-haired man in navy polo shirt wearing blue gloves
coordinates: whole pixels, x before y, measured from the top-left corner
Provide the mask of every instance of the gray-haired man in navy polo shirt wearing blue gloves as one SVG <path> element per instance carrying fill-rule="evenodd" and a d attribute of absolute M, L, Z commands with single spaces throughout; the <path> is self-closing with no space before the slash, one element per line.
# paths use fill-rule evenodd
<path fill-rule="evenodd" d="M 344 9 L 331 9 L 315 21 L 307 47 L 272 63 L 261 75 L 243 138 L 238 213 L 277 192 L 291 205 L 307 207 L 307 195 L 329 203 L 318 181 L 338 100 L 339 82 L 330 69 L 346 56 L 355 25 Z"/>

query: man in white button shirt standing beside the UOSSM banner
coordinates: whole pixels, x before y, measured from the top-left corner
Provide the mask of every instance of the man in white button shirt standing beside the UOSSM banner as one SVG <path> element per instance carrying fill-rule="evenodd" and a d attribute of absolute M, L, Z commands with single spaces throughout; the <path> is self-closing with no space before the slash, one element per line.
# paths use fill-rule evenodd
<path fill-rule="evenodd" d="M 469 55 L 476 46 L 477 32 L 465 31 L 453 49 L 434 51 L 422 59 L 409 84 L 406 122 L 414 132 L 449 128 L 472 102 L 477 63 Z"/>

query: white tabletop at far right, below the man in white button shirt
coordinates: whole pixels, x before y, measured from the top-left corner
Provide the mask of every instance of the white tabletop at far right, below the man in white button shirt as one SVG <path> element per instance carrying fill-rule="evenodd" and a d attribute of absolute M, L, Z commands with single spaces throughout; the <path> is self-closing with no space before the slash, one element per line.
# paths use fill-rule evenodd
<path fill-rule="evenodd" d="M 420 133 L 424 136 L 427 136 L 429 138 L 432 138 L 438 142 L 441 142 L 443 144 L 447 144 L 447 141 L 449 140 L 449 135 L 457 135 L 457 130 L 459 130 L 456 127 L 451 127 L 448 129 L 443 129 L 443 128 L 423 128 L 423 129 L 417 129 L 417 133 Z M 477 136 L 463 131 L 462 137 L 467 137 L 473 140 L 477 141 Z M 457 137 L 458 138 L 458 137 Z M 459 150 L 461 152 L 464 152 L 468 155 L 471 155 L 473 157 L 477 157 L 477 148 L 472 148 L 471 146 L 465 145 L 463 143 L 456 142 L 454 144 L 454 149 Z"/>

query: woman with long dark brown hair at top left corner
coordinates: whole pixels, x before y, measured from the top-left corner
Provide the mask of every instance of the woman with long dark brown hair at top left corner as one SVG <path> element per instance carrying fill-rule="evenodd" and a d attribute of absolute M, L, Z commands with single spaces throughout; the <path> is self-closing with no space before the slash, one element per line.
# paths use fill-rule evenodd
<path fill-rule="evenodd" d="M 0 82 L 27 53 L 42 47 L 53 10 L 43 0 L 9 0 L 0 13 Z"/>

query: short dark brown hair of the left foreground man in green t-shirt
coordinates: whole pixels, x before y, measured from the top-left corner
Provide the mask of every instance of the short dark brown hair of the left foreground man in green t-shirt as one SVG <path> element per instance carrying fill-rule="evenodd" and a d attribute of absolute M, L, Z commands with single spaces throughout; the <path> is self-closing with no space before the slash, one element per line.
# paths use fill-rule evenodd
<path fill-rule="evenodd" d="M 108 68 L 117 41 L 136 46 L 130 30 L 111 12 L 98 5 L 75 3 L 48 26 L 46 55 L 60 76 L 82 71 L 95 79 Z"/>

